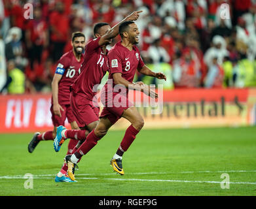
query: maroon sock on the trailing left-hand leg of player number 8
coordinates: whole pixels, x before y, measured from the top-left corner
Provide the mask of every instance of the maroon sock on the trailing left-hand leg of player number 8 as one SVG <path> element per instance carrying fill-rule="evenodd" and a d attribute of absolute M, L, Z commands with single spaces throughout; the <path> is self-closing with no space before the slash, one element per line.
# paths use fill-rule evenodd
<path fill-rule="evenodd" d="M 94 130 L 92 130 L 89 133 L 89 135 L 86 137 L 86 140 L 82 143 L 80 148 L 77 150 L 77 152 L 74 153 L 75 157 L 80 159 L 82 157 L 82 155 L 85 155 L 90 150 L 92 150 L 92 148 L 94 148 L 94 146 L 96 146 L 96 144 L 98 143 L 98 140 L 100 140 L 100 138 L 98 138 L 95 135 Z"/>

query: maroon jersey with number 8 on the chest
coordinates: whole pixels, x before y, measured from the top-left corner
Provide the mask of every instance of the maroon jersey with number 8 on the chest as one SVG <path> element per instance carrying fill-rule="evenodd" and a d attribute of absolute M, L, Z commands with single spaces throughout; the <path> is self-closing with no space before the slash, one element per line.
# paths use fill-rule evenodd
<path fill-rule="evenodd" d="M 139 49 L 135 45 L 132 47 L 132 51 L 130 51 L 125 46 L 122 46 L 121 42 L 117 42 L 109 50 L 108 57 L 110 64 L 109 79 L 113 79 L 113 73 L 120 72 L 122 73 L 122 78 L 132 83 L 136 69 L 141 69 L 144 66 Z M 114 87 L 115 84 L 113 82 Z"/>

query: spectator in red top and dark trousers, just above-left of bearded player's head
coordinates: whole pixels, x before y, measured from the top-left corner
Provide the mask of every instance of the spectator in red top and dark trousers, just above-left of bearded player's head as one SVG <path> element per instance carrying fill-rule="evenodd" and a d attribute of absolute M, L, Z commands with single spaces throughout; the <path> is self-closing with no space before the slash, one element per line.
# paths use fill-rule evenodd
<path fill-rule="evenodd" d="M 56 9 L 50 14 L 49 22 L 52 59 L 55 62 L 62 56 L 69 35 L 69 18 L 64 13 L 64 3 L 62 1 L 56 3 Z"/>

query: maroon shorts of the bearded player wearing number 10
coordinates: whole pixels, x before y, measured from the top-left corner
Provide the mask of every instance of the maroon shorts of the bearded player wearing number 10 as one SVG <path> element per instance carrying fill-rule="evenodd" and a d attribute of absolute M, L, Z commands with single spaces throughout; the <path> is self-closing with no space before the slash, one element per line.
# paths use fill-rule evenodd
<path fill-rule="evenodd" d="M 59 125 L 65 125 L 66 118 L 69 123 L 75 121 L 75 116 L 73 115 L 71 106 L 70 105 L 61 105 L 61 106 L 64 109 L 64 111 L 60 110 L 62 117 L 54 114 L 53 105 L 50 106 L 50 112 L 52 113 L 52 124 L 55 127 L 58 127 Z"/>

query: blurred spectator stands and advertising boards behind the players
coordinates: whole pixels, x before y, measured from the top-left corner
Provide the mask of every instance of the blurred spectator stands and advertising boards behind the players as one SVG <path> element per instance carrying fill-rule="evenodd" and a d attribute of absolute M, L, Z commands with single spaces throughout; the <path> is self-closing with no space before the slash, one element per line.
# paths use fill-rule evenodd
<path fill-rule="evenodd" d="M 26 3 L 32 19 L 24 15 Z M 143 10 L 136 21 L 143 60 L 168 78 L 136 74 L 135 81 L 164 85 L 162 114 L 139 108 L 145 128 L 256 123 L 255 1 L 0 0 L 0 10 L 1 133 L 52 127 L 51 80 L 71 50 L 71 34 L 82 31 L 88 41 L 96 22 L 115 25 L 133 10 Z M 10 88 L 14 73 L 24 88 Z M 121 120 L 114 128 L 126 125 Z"/>

